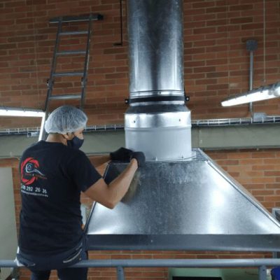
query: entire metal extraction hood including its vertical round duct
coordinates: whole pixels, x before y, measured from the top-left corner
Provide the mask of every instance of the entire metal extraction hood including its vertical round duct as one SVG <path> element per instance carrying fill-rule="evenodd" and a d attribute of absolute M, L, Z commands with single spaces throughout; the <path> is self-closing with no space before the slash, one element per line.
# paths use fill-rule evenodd
<path fill-rule="evenodd" d="M 94 204 L 90 250 L 279 251 L 280 225 L 202 151 L 191 149 L 181 0 L 128 0 L 127 148 L 148 162 L 113 210 Z M 112 181 L 127 164 L 113 162 Z"/>

